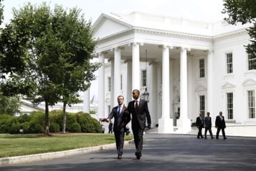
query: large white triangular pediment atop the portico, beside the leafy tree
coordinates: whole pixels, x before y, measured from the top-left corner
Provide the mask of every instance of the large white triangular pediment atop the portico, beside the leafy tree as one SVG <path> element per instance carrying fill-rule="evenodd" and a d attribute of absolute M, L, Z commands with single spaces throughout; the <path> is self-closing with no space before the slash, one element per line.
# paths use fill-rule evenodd
<path fill-rule="evenodd" d="M 113 17 L 107 14 L 101 14 L 101 16 L 93 24 L 93 37 L 105 38 L 117 33 L 121 33 L 129 28 L 132 28 L 126 22 L 123 22 L 118 17 Z"/>

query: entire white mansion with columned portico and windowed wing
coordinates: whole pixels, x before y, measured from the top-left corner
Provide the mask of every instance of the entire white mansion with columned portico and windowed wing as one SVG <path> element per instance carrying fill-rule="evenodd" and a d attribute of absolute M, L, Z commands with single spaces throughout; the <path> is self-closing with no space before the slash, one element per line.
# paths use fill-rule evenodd
<path fill-rule="evenodd" d="M 119 94 L 128 104 L 132 90 L 147 88 L 158 133 L 188 133 L 200 112 L 210 112 L 213 123 L 223 111 L 226 122 L 256 124 L 248 27 L 142 12 L 101 14 L 93 24 L 95 57 L 108 62 L 98 70 L 98 117 L 108 116 Z"/>

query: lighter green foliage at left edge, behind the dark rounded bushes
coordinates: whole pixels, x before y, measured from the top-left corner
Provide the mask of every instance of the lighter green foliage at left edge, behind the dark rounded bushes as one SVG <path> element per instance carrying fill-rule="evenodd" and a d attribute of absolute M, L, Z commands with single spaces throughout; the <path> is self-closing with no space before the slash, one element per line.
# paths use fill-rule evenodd
<path fill-rule="evenodd" d="M 15 115 L 20 112 L 20 104 L 19 98 L 3 96 L 0 92 L 0 114 Z"/>

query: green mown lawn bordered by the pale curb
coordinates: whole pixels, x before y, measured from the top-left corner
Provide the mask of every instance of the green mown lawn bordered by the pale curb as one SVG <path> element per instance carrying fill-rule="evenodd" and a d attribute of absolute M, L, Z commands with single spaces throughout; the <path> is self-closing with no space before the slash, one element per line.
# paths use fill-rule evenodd
<path fill-rule="evenodd" d="M 125 141 L 133 136 L 124 136 Z M 44 136 L 38 134 L 0 134 L 0 158 L 88 148 L 114 143 L 114 134 L 67 133 Z"/>

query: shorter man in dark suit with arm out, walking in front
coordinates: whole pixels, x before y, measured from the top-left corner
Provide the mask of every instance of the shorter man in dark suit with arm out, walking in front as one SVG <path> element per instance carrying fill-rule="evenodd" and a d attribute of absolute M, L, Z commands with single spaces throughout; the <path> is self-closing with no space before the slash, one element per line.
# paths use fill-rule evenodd
<path fill-rule="evenodd" d="M 108 115 L 109 122 L 114 117 L 114 138 L 116 139 L 117 159 L 122 158 L 122 151 L 124 149 L 124 127 L 130 122 L 130 113 L 124 106 L 124 96 L 117 97 L 118 106 L 113 107 L 111 113 Z"/>

